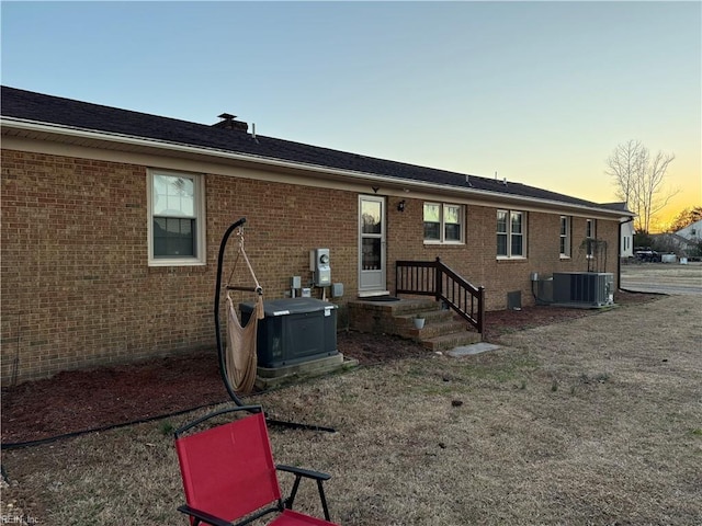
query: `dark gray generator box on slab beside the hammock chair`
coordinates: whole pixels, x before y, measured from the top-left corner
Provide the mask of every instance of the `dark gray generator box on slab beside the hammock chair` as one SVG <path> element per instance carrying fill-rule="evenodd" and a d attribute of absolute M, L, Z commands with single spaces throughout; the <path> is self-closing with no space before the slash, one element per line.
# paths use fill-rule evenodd
<path fill-rule="evenodd" d="M 251 318 L 254 304 L 239 304 L 241 323 Z M 275 368 L 338 354 L 337 306 L 316 298 L 263 301 L 259 320 L 259 367 Z"/>

